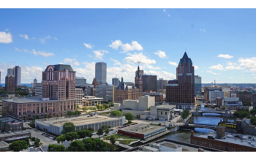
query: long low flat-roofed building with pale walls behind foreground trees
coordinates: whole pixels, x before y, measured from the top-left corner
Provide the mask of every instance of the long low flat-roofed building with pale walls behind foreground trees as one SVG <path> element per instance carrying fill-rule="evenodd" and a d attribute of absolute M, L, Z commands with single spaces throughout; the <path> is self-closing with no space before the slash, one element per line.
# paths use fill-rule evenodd
<path fill-rule="evenodd" d="M 63 125 L 66 122 L 72 122 L 75 125 L 75 130 L 83 130 L 93 128 L 97 131 L 102 126 L 122 126 L 125 123 L 125 117 L 112 118 L 110 116 L 96 115 L 88 117 L 88 115 L 74 116 L 71 118 L 49 118 L 49 119 L 38 119 L 35 121 L 37 129 L 45 130 L 52 134 L 60 135 L 63 129 Z"/>

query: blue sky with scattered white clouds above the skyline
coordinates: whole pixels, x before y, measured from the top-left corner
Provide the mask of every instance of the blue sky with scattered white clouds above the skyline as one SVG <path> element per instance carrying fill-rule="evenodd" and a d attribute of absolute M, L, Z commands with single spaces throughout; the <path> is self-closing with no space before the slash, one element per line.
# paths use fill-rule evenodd
<path fill-rule="evenodd" d="M 92 83 L 135 71 L 173 80 L 187 52 L 202 83 L 256 82 L 256 9 L 0 9 L 1 83 L 21 67 L 21 83 L 42 81 L 50 64 L 70 64 Z"/>

